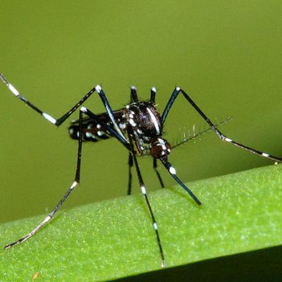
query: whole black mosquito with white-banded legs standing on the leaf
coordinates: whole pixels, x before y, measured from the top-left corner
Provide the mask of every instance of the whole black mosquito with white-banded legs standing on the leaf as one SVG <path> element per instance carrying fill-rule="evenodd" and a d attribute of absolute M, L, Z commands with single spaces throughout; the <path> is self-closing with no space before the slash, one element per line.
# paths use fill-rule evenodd
<path fill-rule="evenodd" d="M 109 105 L 108 100 L 106 99 L 106 95 L 102 90 L 100 85 L 97 85 L 90 90 L 87 94 L 85 94 L 80 101 L 75 104 L 66 114 L 61 116 L 61 118 L 53 118 L 49 114 L 43 112 L 37 106 L 30 103 L 25 97 L 23 97 L 18 90 L 16 90 L 13 85 L 11 85 L 8 80 L 0 73 L 0 79 L 4 82 L 4 84 L 8 87 L 11 92 L 18 97 L 21 101 L 23 101 L 27 106 L 37 111 L 37 113 L 41 114 L 47 121 L 53 123 L 56 126 L 61 125 L 66 119 L 73 114 L 73 112 L 81 106 L 83 102 L 85 102 L 94 92 L 97 92 L 106 112 L 103 114 L 94 114 L 89 109 L 86 109 L 84 106 L 80 107 L 79 111 L 79 119 L 77 121 L 73 121 L 71 126 L 68 128 L 69 134 L 75 140 L 78 140 L 78 159 L 77 159 L 77 168 L 75 171 L 75 180 L 73 181 L 70 188 L 68 188 L 65 195 L 63 195 L 60 202 L 54 207 L 52 212 L 39 223 L 37 227 L 35 227 L 30 233 L 23 236 L 19 240 L 16 240 L 13 243 L 10 243 L 4 246 L 4 249 L 8 249 L 13 247 L 14 245 L 18 245 L 23 241 L 30 238 L 32 235 L 37 233 L 40 228 L 42 228 L 48 221 L 50 221 L 54 214 L 61 207 L 63 202 L 66 200 L 68 195 L 71 194 L 73 189 L 80 182 L 80 161 L 82 155 L 82 140 L 83 141 L 92 141 L 97 142 L 99 139 L 107 139 L 109 137 L 115 137 L 121 144 L 128 149 L 129 152 L 129 179 L 128 179 L 128 194 L 131 193 L 131 168 L 133 164 L 135 165 L 137 177 L 139 180 L 140 188 L 142 195 L 144 196 L 145 202 L 147 204 L 147 208 L 149 210 L 149 215 L 152 220 L 152 226 L 154 228 L 154 232 L 157 238 L 157 244 L 159 246 L 159 253 L 161 255 L 161 266 L 165 266 L 164 259 L 164 251 L 161 245 L 161 239 L 159 236 L 157 221 L 154 217 L 154 213 L 152 211 L 151 204 L 147 197 L 147 192 L 145 188 L 144 181 L 142 179 L 141 171 L 137 162 L 137 156 L 142 156 L 145 154 L 151 154 L 153 157 L 153 167 L 157 173 L 161 186 L 164 187 L 164 183 L 161 180 L 161 176 L 159 171 L 157 171 L 157 160 L 161 161 L 164 165 L 168 173 L 176 180 L 176 182 L 185 189 L 193 200 L 197 204 L 201 204 L 200 200 L 193 194 L 193 192 L 185 185 L 183 182 L 176 176 L 176 169 L 168 162 L 168 154 L 171 152 L 171 145 L 162 137 L 163 135 L 163 126 L 166 121 L 166 117 L 168 116 L 168 112 L 171 110 L 173 103 L 176 101 L 178 94 L 183 94 L 183 97 L 192 105 L 192 107 L 197 111 L 204 121 L 206 121 L 209 125 L 209 130 L 214 130 L 216 135 L 220 138 L 221 141 L 226 141 L 231 143 L 237 147 L 242 149 L 246 149 L 249 152 L 254 154 L 258 154 L 259 156 L 272 159 L 276 162 L 281 162 L 282 159 L 279 157 L 272 156 L 271 154 L 267 154 L 264 152 L 260 152 L 257 149 L 252 149 L 251 147 L 247 147 L 241 143 L 238 143 L 228 137 L 223 135 L 221 131 L 218 129 L 218 125 L 212 123 L 212 121 L 203 113 L 203 111 L 192 101 L 190 96 L 182 90 L 180 87 L 176 87 L 172 94 L 171 98 L 168 100 L 166 107 L 164 109 L 163 114 L 159 114 L 155 106 L 155 96 L 156 96 L 156 88 L 152 87 L 151 89 L 151 97 L 149 102 L 141 102 L 137 98 L 137 92 L 135 87 L 130 87 L 130 104 L 127 104 L 123 109 L 119 109 L 117 111 L 113 111 L 111 106 Z M 85 115 L 85 116 L 84 116 Z M 207 130 L 205 130 L 207 131 Z"/>

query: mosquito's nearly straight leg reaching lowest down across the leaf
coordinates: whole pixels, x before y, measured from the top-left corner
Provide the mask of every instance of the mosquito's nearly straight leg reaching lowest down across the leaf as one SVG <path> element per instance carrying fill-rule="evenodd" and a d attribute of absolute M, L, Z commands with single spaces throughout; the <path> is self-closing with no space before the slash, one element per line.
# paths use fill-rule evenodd
<path fill-rule="evenodd" d="M 160 252 L 160 255 L 161 255 L 161 267 L 164 267 L 165 266 L 164 251 L 163 251 L 163 248 L 161 246 L 161 239 L 159 238 L 159 231 L 158 231 L 157 221 L 154 218 L 154 213 L 153 213 L 151 204 L 149 203 L 149 198 L 147 196 L 145 184 L 144 184 L 144 181 L 142 179 L 141 171 L 140 171 L 140 168 L 139 168 L 139 165 L 138 165 L 138 162 L 137 162 L 137 158 L 136 158 L 136 154 L 135 154 L 135 151 L 134 151 L 134 148 L 133 148 L 133 139 L 132 139 L 133 136 L 129 132 L 128 132 L 128 138 L 129 138 L 129 141 L 130 141 L 131 152 L 133 152 L 133 161 L 134 161 L 135 168 L 136 168 L 136 171 L 137 171 L 137 176 L 138 176 L 141 192 L 142 192 L 142 195 L 143 195 L 143 197 L 145 199 L 147 207 L 149 209 L 149 215 L 150 215 L 150 217 L 152 219 L 152 225 L 153 225 L 154 231 L 156 233 L 157 243 L 159 245 L 159 252 Z"/>

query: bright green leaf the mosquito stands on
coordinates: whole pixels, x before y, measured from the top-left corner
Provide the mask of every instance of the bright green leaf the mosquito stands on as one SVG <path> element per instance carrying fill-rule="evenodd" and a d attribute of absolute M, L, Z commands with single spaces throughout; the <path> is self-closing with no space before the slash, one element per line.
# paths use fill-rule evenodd
<path fill-rule="evenodd" d="M 282 242 L 282 167 L 200 180 L 189 187 L 149 193 L 166 266 L 173 267 Z M 78 197 L 78 191 L 73 197 Z M 6 245 L 43 216 L 4 223 Z M 121 197 L 60 212 L 33 238 L 1 251 L 3 281 L 109 281 L 161 269 L 161 259 L 142 195 Z M 2 281 L 2 280 L 1 280 Z"/>

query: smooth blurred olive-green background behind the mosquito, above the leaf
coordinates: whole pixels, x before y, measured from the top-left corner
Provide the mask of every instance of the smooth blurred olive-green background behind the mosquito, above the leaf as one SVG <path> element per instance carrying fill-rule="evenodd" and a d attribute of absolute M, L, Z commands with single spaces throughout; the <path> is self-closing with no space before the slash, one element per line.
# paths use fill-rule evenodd
<path fill-rule="evenodd" d="M 98 83 L 113 109 L 128 102 L 130 85 L 142 99 L 154 85 L 162 111 L 180 85 L 213 121 L 233 117 L 221 128 L 228 137 L 282 155 L 281 1 L 1 0 L 0 11 L 0 71 L 48 114 L 58 118 Z M 46 214 L 75 175 L 68 121 L 56 128 L 3 83 L 0 104 L 0 221 Z M 97 97 L 85 106 L 104 111 Z M 166 138 L 175 142 L 193 124 L 204 128 L 180 97 Z M 171 153 L 185 182 L 271 164 L 214 134 L 202 139 Z M 123 146 L 106 140 L 82 151 L 81 185 L 64 207 L 125 195 Z M 147 189 L 159 188 L 152 158 L 140 166 Z M 136 176 L 133 192 L 140 192 Z"/>

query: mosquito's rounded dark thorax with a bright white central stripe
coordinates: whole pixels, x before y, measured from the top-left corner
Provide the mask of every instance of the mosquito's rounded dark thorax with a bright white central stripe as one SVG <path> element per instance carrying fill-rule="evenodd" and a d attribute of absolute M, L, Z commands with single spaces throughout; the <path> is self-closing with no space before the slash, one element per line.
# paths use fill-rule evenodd
<path fill-rule="evenodd" d="M 159 112 L 150 102 L 135 102 L 126 106 L 127 119 L 135 134 L 145 143 L 161 135 Z"/>

